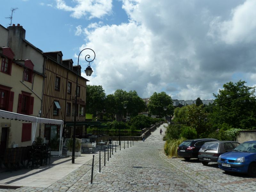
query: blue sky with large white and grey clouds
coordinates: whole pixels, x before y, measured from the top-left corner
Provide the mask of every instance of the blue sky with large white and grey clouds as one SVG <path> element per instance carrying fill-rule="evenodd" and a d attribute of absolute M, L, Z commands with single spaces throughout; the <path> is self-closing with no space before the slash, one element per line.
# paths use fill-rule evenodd
<path fill-rule="evenodd" d="M 86 78 L 106 94 L 214 99 L 229 81 L 255 86 L 255 0 L 4 0 L 1 6 L 0 24 L 8 27 L 5 17 L 18 7 L 12 23 L 44 52 L 60 50 L 77 64 L 80 50 L 93 49 L 94 72 Z M 79 64 L 87 67 L 84 57 Z"/>

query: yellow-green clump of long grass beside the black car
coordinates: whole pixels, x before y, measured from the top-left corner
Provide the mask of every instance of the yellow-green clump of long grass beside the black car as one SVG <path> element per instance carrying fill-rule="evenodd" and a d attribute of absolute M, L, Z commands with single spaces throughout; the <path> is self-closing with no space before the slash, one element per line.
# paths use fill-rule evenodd
<path fill-rule="evenodd" d="M 167 140 L 164 145 L 164 153 L 170 157 L 178 156 L 179 145 L 186 140 L 185 138 Z"/>

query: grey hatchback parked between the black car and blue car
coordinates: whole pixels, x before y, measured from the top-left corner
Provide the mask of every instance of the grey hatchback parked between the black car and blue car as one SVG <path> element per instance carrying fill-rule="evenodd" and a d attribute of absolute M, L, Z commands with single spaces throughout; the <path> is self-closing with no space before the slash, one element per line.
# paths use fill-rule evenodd
<path fill-rule="evenodd" d="M 204 143 L 198 152 L 198 159 L 202 164 L 207 165 L 209 162 L 217 162 L 218 157 L 229 151 L 232 151 L 240 143 L 236 141 L 210 141 Z"/>

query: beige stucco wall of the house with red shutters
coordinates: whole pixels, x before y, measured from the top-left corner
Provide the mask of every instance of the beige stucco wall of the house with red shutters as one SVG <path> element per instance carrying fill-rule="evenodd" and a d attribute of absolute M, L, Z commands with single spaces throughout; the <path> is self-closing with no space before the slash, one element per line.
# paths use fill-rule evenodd
<path fill-rule="evenodd" d="M 0 63 L 1 62 L 2 62 L 2 58 L 0 58 Z M 0 84 L 4 86 L 12 87 L 11 91 L 14 92 L 12 112 L 14 113 L 17 113 L 18 99 L 19 99 L 19 94 L 21 94 L 21 91 L 31 93 L 31 96 L 34 97 L 34 108 L 33 108 L 33 114 L 31 114 L 30 116 L 38 117 L 39 110 L 41 109 L 40 98 L 42 98 L 43 77 L 37 74 L 34 76 L 34 85 L 32 90 L 32 83 L 29 83 L 26 81 L 24 81 L 23 84 L 21 83 L 23 79 L 23 70 L 24 68 L 22 66 L 12 63 L 11 75 L 0 72 Z M 2 125 L 1 123 L 11 124 L 9 128 L 9 137 L 8 137 L 8 146 L 7 146 L 8 148 L 12 147 L 13 144 L 18 144 L 19 147 L 31 145 L 31 141 L 21 142 L 22 123 L 28 123 L 28 122 L 0 119 L 0 125 Z M 2 132 L 2 127 L 0 128 L 0 132 Z M 36 137 L 37 136 L 39 136 L 39 124 L 37 125 L 37 129 L 36 129 Z"/>

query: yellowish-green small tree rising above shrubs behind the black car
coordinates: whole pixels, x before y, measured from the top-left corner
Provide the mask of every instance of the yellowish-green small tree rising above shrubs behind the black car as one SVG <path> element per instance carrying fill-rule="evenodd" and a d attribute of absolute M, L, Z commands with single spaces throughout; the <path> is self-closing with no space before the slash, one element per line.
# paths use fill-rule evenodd
<path fill-rule="evenodd" d="M 206 114 L 203 105 L 196 106 L 195 104 L 189 105 L 188 107 L 188 117 L 186 123 L 191 128 L 194 128 L 197 132 L 197 137 L 203 133 L 206 128 L 206 123 L 204 121 Z"/>

